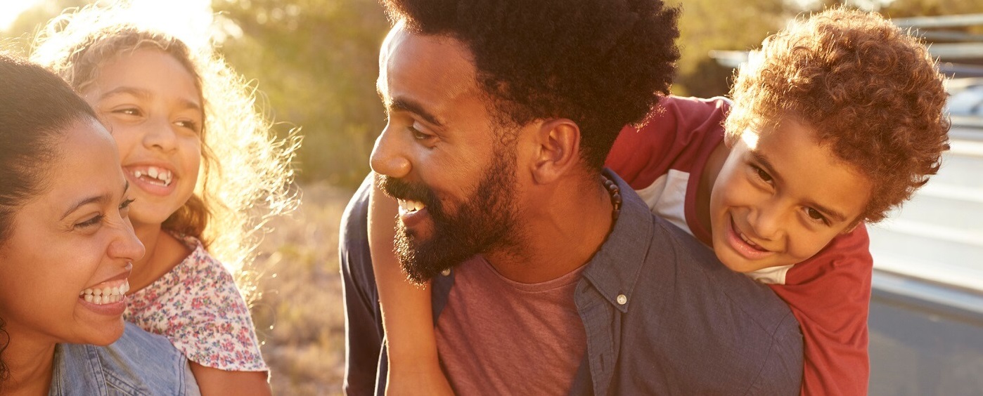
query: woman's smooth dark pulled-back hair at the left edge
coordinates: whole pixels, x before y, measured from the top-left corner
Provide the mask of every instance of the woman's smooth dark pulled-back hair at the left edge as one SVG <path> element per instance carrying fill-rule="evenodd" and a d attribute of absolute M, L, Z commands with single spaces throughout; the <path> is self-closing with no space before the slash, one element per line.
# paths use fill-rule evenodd
<path fill-rule="evenodd" d="M 0 248 L 14 230 L 17 211 L 47 188 L 65 131 L 87 119 L 96 120 L 92 108 L 61 78 L 0 54 Z M 10 341 L 3 324 L 0 319 L 0 354 Z M 0 359 L 0 381 L 7 376 Z"/>

